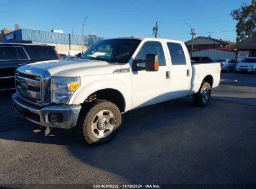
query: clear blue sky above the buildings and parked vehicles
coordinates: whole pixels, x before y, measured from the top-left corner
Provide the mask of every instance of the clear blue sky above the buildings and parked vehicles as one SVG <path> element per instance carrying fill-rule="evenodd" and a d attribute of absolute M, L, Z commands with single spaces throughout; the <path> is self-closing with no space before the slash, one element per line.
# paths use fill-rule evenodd
<path fill-rule="evenodd" d="M 159 24 L 159 37 L 191 39 L 189 23 L 196 36 L 235 41 L 235 25 L 230 12 L 251 0 L 6 0 L 1 1 L 0 29 L 50 31 L 99 37 L 153 37 L 154 22 Z"/>

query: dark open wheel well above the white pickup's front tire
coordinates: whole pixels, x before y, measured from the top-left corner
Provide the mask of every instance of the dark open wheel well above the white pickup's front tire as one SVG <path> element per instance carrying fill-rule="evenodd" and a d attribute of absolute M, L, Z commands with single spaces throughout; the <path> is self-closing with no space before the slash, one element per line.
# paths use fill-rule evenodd
<path fill-rule="evenodd" d="M 104 89 L 95 91 L 85 99 L 85 103 L 93 101 L 94 99 L 105 99 L 116 104 L 121 112 L 125 111 L 125 98 L 123 98 L 123 94 L 118 90 Z"/>

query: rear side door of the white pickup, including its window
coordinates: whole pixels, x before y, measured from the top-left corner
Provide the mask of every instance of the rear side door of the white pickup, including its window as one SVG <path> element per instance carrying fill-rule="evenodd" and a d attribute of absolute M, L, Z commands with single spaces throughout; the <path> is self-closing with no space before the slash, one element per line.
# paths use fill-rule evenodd
<path fill-rule="evenodd" d="M 167 42 L 169 64 L 171 65 L 171 82 L 168 99 L 179 98 L 189 94 L 191 88 L 191 63 L 186 46 L 176 42 Z"/>

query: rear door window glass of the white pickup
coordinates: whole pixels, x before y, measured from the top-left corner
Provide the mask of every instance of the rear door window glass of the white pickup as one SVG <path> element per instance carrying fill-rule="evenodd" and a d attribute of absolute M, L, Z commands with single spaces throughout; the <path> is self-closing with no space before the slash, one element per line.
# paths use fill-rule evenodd
<path fill-rule="evenodd" d="M 186 65 L 186 58 L 181 44 L 167 43 L 173 65 Z"/>

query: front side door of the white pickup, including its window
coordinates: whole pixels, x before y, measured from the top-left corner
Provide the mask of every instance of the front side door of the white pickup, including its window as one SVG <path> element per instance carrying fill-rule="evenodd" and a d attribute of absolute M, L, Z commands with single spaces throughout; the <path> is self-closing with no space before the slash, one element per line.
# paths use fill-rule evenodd
<path fill-rule="evenodd" d="M 146 41 L 141 43 L 132 59 L 145 60 L 146 54 L 158 55 L 158 71 L 131 71 L 131 95 L 133 108 L 166 101 L 169 94 L 169 64 L 166 61 L 162 42 Z M 131 63 L 132 64 L 132 63 Z M 145 68 L 145 63 L 138 63 Z"/>

